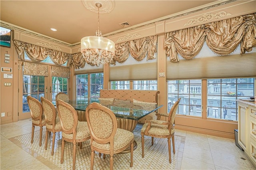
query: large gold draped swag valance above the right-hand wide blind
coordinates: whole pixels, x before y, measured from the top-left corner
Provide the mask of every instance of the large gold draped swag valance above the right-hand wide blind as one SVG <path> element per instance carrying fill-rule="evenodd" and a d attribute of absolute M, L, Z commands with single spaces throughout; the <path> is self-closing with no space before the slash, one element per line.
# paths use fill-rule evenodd
<path fill-rule="evenodd" d="M 164 38 L 166 57 L 178 62 L 179 53 L 184 59 L 192 59 L 205 41 L 218 55 L 229 55 L 239 43 L 241 55 L 252 51 L 256 47 L 256 13 L 168 32 Z"/>

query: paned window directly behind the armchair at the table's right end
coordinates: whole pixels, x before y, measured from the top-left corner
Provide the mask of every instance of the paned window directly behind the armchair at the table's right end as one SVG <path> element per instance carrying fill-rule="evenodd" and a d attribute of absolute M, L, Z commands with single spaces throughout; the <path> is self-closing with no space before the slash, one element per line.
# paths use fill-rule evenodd
<path fill-rule="evenodd" d="M 168 81 L 168 112 L 178 98 L 181 98 L 178 114 L 202 117 L 202 81 Z"/>

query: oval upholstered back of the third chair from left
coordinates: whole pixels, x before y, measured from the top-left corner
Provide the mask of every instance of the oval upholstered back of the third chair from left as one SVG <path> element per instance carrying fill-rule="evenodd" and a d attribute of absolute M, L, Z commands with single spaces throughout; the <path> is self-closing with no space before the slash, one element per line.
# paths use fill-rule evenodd
<path fill-rule="evenodd" d="M 76 126 L 78 124 L 78 116 L 74 107 L 59 99 L 57 101 L 58 115 L 62 132 L 65 134 L 73 133 L 73 138 L 76 139 Z"/>

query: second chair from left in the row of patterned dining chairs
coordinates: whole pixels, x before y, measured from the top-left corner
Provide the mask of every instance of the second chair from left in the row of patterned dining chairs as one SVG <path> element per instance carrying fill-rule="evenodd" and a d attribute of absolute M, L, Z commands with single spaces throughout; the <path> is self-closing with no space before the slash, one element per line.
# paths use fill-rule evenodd
<path fill-rule="evenodd" d="M 55 132 L 61 132 L 60 119 L 57 116 L 56 108 L 51 101 L 41 97 L 41 103 L 44 111 L 44 117 L 46 121 L 46 133 L 45 133 L 45 150 L 47 150 L 48 136 L 50 132 L 52 135 L 52 155 L 54 154 L 54 142 Z"/>

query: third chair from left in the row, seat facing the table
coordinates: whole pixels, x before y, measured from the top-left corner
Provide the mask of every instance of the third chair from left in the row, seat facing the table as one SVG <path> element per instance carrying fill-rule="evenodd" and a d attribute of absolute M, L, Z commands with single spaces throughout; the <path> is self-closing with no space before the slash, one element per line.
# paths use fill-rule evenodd
<path fill-rule="evenodd" d="M 62 128 L 60 163 L 63 163 L 65 141 L 72 142 L 74 170 L 76 168 L 76 143 L 79 142 L 80 149 L 82 149 L 82 142 L 90 139 L 90 131 L 86 122 L 78 121 L 76 110 L 70 104 L 58 99 L 56 106 Z"/>

